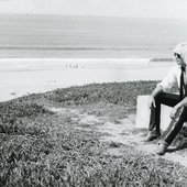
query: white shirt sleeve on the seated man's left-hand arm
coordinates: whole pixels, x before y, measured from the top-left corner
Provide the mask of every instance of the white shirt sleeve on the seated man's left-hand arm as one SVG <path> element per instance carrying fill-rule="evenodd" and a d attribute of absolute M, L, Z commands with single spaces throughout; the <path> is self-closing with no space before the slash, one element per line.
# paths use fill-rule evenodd
<path fill-rule="evenodd" d="M 170 90 L 174 85 L 177 82 L 176 67 L 170 68 L 166 77 L 158 84 L 163 87 L 164 91 Z"/>

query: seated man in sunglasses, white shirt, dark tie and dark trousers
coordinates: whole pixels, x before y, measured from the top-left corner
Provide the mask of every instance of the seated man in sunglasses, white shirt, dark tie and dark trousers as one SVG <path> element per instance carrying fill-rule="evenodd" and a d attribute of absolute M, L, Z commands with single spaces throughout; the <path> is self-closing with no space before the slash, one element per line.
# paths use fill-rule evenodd
<path fill-rule="evenodd" d="M 178 134 L 185 121 L 187 121 L 187 43 L 178 44 L 174 50 L 176 65 L 168 72 L 167 76 L 156 86 L 150 96 L 148 107 L 151 119 L 146 141 L 161 136 L 160 117 L 161 103 L 173 107 L 169 113 L 172 122 L 162 136 L 156 153 L 164 155 L 175 136 Z M 174 86 L 179 89 L 179 95 L 168 94 Z"/>

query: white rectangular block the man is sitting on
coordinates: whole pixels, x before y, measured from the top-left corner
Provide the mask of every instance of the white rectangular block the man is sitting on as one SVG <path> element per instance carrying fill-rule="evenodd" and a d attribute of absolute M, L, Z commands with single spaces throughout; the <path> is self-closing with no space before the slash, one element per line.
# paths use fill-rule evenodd
<path fill-rule="evenodd" d="M 136 128 L 148 128 L 151 109 L 147 106 L 148 96 L 139 96 L 136 106 Z M 172 107 L 161 106 L 161 130 L 165 131 L 170 123 L 169 112 Z"/>

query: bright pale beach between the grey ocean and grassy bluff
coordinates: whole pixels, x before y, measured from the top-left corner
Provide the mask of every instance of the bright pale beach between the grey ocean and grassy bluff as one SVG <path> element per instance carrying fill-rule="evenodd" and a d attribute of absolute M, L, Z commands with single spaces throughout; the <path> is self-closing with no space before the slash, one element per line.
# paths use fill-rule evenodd
<path fill-rule="evenodd" d="M 174 63 L 148 59 L 1 58 L 0 101 L 92 82 L 158 80 Z"/>

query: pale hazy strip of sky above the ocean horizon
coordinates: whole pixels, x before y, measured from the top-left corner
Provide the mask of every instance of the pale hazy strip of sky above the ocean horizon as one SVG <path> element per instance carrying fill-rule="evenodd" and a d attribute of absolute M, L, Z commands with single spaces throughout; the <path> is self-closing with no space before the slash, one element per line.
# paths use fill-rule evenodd
<path fill-rule="evenodd" d="M 187 0 L 0 0 L 0 13 L 187 19 Z"/>

